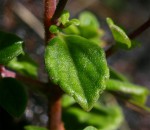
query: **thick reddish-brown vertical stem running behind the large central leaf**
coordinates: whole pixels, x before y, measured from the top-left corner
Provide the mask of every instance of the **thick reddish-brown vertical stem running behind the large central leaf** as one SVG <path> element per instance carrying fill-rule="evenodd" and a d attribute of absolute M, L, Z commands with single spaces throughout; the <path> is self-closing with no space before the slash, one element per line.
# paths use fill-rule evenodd
<path fill-rule="evenodd" d="M 49 31 L 49 27 L 52 24 L 57 24 L 58 18 L 61 15 L 66 3 L 67 0 L 59 0 L 56 8 L 56 0 L 45 0 L 45 45 L 47 45 L 48 41 L 54 37 L 54 35 Z M 64 126 L 61 121 L 61 97 L 63 91 L 56 85 L 47 85 L 47 87 L 50 88 L 50 94 L 48 96 L 48 128 L 49 130 L 64 130 Z"/>

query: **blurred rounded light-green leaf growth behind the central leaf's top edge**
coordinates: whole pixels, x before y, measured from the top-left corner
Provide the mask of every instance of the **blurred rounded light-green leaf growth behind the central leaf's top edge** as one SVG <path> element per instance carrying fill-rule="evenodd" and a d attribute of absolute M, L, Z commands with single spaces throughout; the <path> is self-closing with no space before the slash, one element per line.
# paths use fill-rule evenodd
<path fill-rule="evenodd" d="M 66 25 L 72 23 L 72 21 L 74 22 L 74 19 L 67 22 Z M 80 35 L 89 39 L 97 45 L 103 43 L 101 37 L 104 33 L 102 29 L 99 29 L 99 21 L 94 14 L 88 11 L 82 12 L 79 15 L 79 22 L 77 21 L 75 22 L 76 24 L 72 23 L 70 26 L 67 26 L 67 28 L 63 29 L 63 32 L 65 32 L 66 34 Z"/>

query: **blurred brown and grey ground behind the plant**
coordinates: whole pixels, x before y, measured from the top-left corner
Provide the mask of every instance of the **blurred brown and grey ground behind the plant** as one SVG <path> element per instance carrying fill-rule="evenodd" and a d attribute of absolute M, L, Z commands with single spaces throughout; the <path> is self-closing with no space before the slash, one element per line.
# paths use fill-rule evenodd
<path fill-rule="evenodd" d="M 43 6 L 42 0 L 0 0 L 0 30 L 15 33 L 24 39 L 25 51 L 39 64 L 39 78 L 46 81 Z M 104 38 L 111 43 L 113 39 L 106 17 L 111 17 L 130 34 L 149 19 L 150 0 L 69 0 L 66 9 L 70 11 L 71 17 L 77 17 L 83 10 L 93 12 L 99 19 L 101 28 L 106 31 Z M 121 50 L 109 57 L 108 62 L 134 83 L 150 89 L 150 28 L 136 40 L 141 43 L 140 47 L 132 51 Z M 37 94 L 31 94 L 30 99 L 24 118 L 14 121 L 16 124 L 19 122 L 20 126 L 8 125 L 9 121 L 5 121 L 5 118 L 9 115 L 0 110 L 0 130 L 4 130 L 3 126 L 8 127 L 6 130 L 21 130 L 25 124 L 46 125 L 46 100 L 43 102 Z M 147 104 L 150 106 L 150 99 Z M 129 130 L 150 130 L 150 115 L 138 114 L 127 107 L 123 110 Z M 11 122 L 11 117 L 9 119 Z"/>

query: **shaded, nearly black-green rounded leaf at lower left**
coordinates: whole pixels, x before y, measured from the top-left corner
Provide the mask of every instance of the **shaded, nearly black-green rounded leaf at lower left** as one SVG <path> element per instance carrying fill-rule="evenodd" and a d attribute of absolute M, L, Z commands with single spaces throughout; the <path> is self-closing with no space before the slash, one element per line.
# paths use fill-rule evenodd
<path fill-rule="evenodd" d="M 0 105 L 12 116 L 21 116 L 27 105 L 24 86 L 13 78 L 0 79 Z"/>

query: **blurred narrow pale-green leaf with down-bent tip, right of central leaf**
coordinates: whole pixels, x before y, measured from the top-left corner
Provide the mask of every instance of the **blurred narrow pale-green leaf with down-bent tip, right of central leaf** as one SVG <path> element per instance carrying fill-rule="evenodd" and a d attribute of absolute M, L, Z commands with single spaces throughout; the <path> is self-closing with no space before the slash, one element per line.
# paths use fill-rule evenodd
<path fill-rule="evenodd" d="M 120 91 L 122 93 L 129 94 L 132 100 L 141 104 L 145 104 L 146 99 L 150 94 L 149 90 L 147 90 L 143 86 L 138 86 L 131 83 L 121 82 L 113 79 L 107 81 L 106 88 L 107 90 Z"/>

